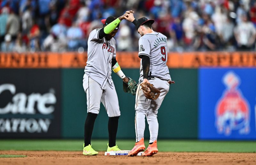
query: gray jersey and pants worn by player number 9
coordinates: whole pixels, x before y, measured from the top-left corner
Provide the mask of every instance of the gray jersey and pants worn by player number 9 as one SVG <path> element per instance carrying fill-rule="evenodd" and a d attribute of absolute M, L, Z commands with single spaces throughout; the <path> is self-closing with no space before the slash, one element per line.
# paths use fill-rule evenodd
<path fill-rule="evenodd" d="M 136 91 L 135 98 L 135 133 L 136 141 L 140 141 L 144 137 L 145 117 L 148 120 L 148 128 L 150 133 L 149 143 L 157 140 L 158 121 L 157 113 L 164 100 L 164 97 L 169 91 L 171 80 L 169 69 L 166 66 L 167 62 L 167 44 L 166 36 L 161 33 L 147 33 L 140 37 L 139 40 L 139 57 L 147 55 L 150 58 L 149 74 L 155 78 L 149 79 L 148 82 L 153 84 L 161 91 L 160 96 L 156 100 L 149 100 L 140 90 L 140 84 Z M 141 60 L 142 61 L 142 60 Z M 140 61 L 140 82 L 143 81 L 143 70 Z"/>

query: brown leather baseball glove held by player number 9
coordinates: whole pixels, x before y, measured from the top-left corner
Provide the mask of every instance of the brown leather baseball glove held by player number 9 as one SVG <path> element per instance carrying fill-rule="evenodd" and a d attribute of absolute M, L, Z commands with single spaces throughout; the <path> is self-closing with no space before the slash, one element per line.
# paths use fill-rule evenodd
<path fill-rule="evenodd" d="M 143 91 L 145 97 L 147 97 L 150 100 L 156 100 L 161 91 L 154 87 L 153 84 L 150 83 L 140 83 L 141 90 Z"/>

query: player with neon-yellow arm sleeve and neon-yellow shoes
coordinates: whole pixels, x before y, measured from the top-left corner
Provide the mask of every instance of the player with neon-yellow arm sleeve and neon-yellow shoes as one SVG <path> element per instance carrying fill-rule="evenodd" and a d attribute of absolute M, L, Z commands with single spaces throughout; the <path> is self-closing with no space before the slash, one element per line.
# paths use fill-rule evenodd
<path fill-rule="evenodd" d="M 126 13 L 133 11 L 126 11 Z M 108 120 L 109 143 L 107 151 L 120 150 L 116 145 L 116 133 L 120 110 L 114 83 L 111 78 L 112 70 L 128 83 L 116 61 L 116 40 L 113 38 L 119 23 L 125 18 L 108 17 L 101 20 L 104 27 L 94 29 L 88 39 L 88 59 L 84 69 L 83 87 L 87 97 L 87 117 L 84 124 L 84 155 L 98 154 L 92 148 L 91 137 L 95 119 L 100 111 L 100 102 L 106 108 Z"/>

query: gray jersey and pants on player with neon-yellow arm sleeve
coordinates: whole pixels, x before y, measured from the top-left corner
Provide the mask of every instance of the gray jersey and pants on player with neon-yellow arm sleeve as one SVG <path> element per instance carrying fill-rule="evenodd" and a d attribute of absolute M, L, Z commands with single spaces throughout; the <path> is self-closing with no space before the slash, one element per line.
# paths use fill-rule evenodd
<path fill-rule="evenodd" d="M 83 87 L 87 97 L 87 112 L 100 112 L 100 102 L 109 117 L 120 116 L 116 89 L 111 78 L 112 58 L 116 58 L 116 40 L 99 39 L 100 29 L 88 39 L 88 59 L 84 69 Z"/>

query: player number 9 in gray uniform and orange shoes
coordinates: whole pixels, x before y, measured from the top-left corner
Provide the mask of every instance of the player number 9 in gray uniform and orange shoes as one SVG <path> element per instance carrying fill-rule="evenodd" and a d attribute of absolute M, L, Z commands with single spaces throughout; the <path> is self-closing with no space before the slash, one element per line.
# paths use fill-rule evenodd
<path fill-rule="evenodd" d="M 141 37 L 139 39 L 139 58 L 140 60 L 140 83 L 151 83 L 161 91 L 156 100 L 146 98 L 143 91 L 138 86 L 135 100 L 135 133 L 136 143 L 129 152 L 128 156 L 136 156 L 139 152 L 145 150 L 144 130 L 145 117 L 148 121 L 150 140 L 148 148 L 142 153 L 143 156 L 152 156 L 158 152 L 157 135 L 158 121 L 157 113 L 165 95 L 169 91 L 171 76 L 166 65 L 167 62 L 167 37 L 159 32 L 152 30 L 154 20 L 148 18 L 134 19 L 130 13 L 127 20 L 131 21 Z"/>

